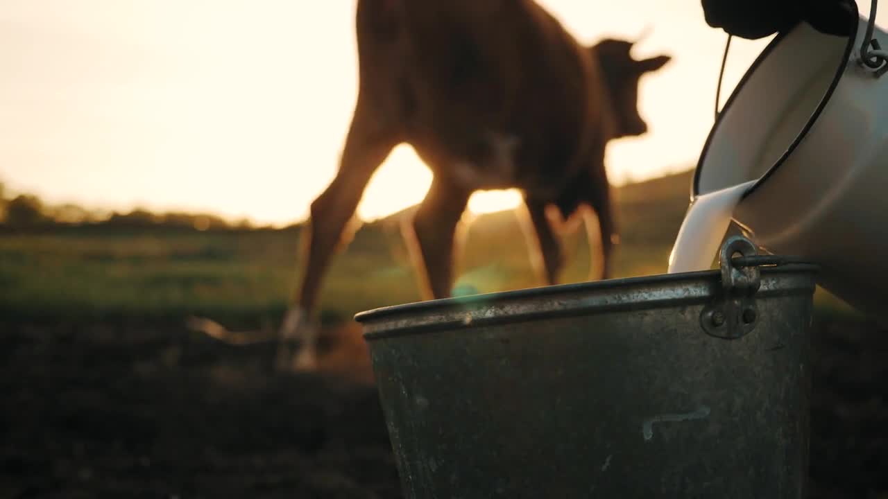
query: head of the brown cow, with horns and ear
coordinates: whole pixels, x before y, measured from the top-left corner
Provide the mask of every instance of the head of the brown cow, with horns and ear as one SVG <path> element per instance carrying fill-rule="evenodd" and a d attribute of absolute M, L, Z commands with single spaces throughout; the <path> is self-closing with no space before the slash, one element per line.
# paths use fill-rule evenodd
<path fill-rule="evenodd" d="M 601 75 L 607 85 L 607 99 L 614 109 L 616 137 L 632 137 L 647 131 L 647 123 L 638 115 L 638 79 L 656 71 L 670 61 L 670 56 L 632 59 L 632 43 L 607 39 L 592 45 L 592 57 L 598 59 Z"/>

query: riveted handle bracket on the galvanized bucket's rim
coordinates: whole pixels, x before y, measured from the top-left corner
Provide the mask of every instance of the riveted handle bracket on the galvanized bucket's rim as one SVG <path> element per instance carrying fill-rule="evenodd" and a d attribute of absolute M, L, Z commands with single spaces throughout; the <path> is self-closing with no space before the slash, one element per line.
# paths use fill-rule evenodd
<path fill-rule="evenodd" d="M 738 253 L 740 257 L 735 258 Z M 721 292 L 700 314 L 701 326 L 710 336 L 738 339 L 756 328 L 755 294 L 761 286 L 761 273 L 757 265 L 737 264 L 741 259 L 756 256 L 756 246 L 741 235 L 728 238 L 722 245 Z"/>

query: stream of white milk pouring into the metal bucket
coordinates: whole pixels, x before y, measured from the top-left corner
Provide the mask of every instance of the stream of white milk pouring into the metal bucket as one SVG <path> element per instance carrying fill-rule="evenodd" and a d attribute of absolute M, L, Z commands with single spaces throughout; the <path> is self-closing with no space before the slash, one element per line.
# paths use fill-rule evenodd
<path fill-rule="evenodd" d="M 750 180 L 694 198 L 678 229 L 669 257 L 669 273 L 710 269 L 731 224 L 734 208 L 755 182 Z"/>

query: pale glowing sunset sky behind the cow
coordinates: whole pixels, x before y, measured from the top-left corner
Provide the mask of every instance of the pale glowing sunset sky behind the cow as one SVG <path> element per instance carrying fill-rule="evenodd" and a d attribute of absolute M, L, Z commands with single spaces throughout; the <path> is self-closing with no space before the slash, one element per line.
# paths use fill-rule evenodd
<path fill-rule="evenodd" d="M 540 0 L 578 40 L 634 38 L 649 126 L 607 149 L 614 185 L 686 170 L 713 122 L 725 33 L 700 0 Z M 868 2 L 860 5 L 868 13 Z M 90 208 L 210 211 L 281 225 L 329 184 L 357 84 L 356 0 L 0 0 L 0 181 Z M 888 25 L 888 5 L 877 17 Z M 767 40 L 736 40 L 727 93 Z M 725 99 L 723 97 L 723 99 Z M 358 214 L 419 202 L 431 173 L 397 147 Z M 514 192 L 470 210 L 508 209 Z"/>

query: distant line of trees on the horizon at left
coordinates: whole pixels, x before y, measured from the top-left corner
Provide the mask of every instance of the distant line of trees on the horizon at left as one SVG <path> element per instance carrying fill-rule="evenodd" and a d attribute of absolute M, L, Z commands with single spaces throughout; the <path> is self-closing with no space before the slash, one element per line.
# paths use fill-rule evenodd
<path fill-rule="evenodd" d="M 0 183 L 0 226 L 5 228 L 51 228 L 95 226 L 108 228 L 177 228 L 188 230 L 251 230 L 258 227 L 243 219 L 235 222 L 206 213 L 169 211 L 154 213 L 137 208 L 128 213 L 88 210 L 76 204 L 49 205 L 34 194 L 10 196 Z"/>

